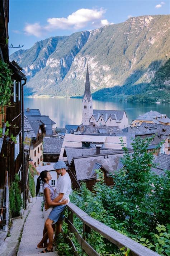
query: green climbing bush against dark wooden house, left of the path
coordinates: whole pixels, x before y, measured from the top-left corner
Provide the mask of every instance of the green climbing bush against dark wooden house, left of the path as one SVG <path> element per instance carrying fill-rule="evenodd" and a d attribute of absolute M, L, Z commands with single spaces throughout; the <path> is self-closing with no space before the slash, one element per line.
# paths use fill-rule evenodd
<path fill-rule="evenodd" d="M 20 210 L 23 206 L 20 190 L 20 180 L 18 174 L 15 174 L 15 180 L 9 188 L 9 205 L 12 217 L 20 215 Z"/>

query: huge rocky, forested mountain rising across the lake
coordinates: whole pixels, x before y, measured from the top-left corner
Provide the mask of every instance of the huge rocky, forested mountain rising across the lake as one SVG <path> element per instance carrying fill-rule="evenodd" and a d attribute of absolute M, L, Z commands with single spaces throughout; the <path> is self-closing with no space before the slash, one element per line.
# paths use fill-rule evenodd
<path fill-rule="evenodd" d="M 50 37 L 16 51 L 10 60 L 28 77 L 27 95 L 82 95 L 87 63 L 94 94 L 104 88 L 113 94 L 120 86 L 141 93 L 170 58 L 169 42 L 170 15 L 148 15 L 91 32 Z"/>

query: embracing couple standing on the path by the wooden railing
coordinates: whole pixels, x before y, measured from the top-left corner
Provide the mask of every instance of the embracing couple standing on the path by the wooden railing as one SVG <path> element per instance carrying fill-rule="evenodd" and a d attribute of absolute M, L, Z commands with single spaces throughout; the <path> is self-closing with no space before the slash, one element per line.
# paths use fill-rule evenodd
<path fill-rule="evenodd" d="M 54 190 L 49 184 L 51 174 L 48 171 L 42 171 L 37 180 L 37 194 L 40 188 L 40 178 L 43 181 L 43 216 L 44 216 L 44 230 L 43 238 L 38 243 L 38 248 L 47 247 L 41 253 L 53 251 L 53 234 L 56 226 L 56 234 L 61 232 L 61 225 L 63 220 L 63 211 L 69 203 L 69 195 L 71 192 L 71 180 L 69 174 L 66 172 L 66 164 L 63 161 L 55 163 L 54 168 L 59 176 L 57 179 L 57 187 Z M 55 225 L 56 224 L 56 225 Z M 47 239 L 49 239 L 47 244 Z"/>

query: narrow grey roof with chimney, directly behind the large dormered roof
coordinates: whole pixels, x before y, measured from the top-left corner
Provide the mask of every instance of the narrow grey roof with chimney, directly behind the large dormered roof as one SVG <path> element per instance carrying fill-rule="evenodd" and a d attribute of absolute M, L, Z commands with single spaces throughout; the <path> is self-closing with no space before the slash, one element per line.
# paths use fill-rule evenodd
<path fill-rule="evenodd" d="M 121 152 L 121 150 L 113 150 L 113 149 L 101 149 L 101 154 L 110 154 Z M 70 165 L 73 157 L 81 157 L 81 156 L 92 156 L 96 154 L 96 148 L 76 148 L 76 147 L 65 147 L 65 152 L 67 156 L 68 163 Z"/>

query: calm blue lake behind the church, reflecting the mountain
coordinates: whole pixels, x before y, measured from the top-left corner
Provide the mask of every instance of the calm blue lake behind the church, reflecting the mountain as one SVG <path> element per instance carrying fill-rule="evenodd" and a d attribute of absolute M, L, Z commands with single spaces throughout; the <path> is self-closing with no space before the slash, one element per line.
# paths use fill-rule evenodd
<path fill-rule="evenodd" d="M 65 127 L 66 124 L 79 125 L 82 118 L 82 99 L 72 98 L 24 98 L 24 108 L 37 109 L 41 114 L 49 116 L 56 122 L 57 127 Z M 128 103 L 119 100 L 93 100 L 94 109 L 125 110 L 128 123 L 150 110 L 156 110 L 170 117 L 169 103 Z"/>

